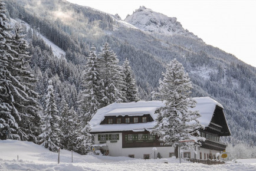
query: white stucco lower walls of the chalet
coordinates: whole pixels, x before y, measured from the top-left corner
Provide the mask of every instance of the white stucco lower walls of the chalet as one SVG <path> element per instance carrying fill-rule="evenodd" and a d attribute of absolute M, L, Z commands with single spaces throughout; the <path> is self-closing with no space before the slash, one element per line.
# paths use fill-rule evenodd
<path fill-rule="evenodd" d="M 103 133 L 101 133 L 103 134 Z M 154 151 L 152 150 L 153 147 L 137 147 L 137 148 L 122 148 L 122 133 L 111 133 L 111 134 L 119 134 L 119 140 L 117 142 L 111 142 L 110 140 L 106 140 L 106 146 L 109 150 L 109 156 L 127 156 L 129 154 L 134 154 L 135 158 L 140 158 L 143 159 L 143 154 L 149 154 L 150 159 L 154 159 Z M 98 134 L 95 134 L 95 144 L 100 144 L 100 141 L 98 140 Z M 174 148 L 173 147 L 156 147 L 156 156 L 157 153 L 159 152 L 160 155 L 163 158 L 169 157 L 169 153 L 174 153 Z M 183 158 L 184 152 L 191 152 L 191 158 L 195 158 L 195 152 L 190 151 L 190 150 L 180 150 L 181 156 Z M 209 149 L 204 149 L 201 147 L 196 147 L 196 159 L 200 159 L 200 152 L 202 152 L 202 159 L 204 159 L 204 153 L 207 154 L 212 153 L 212 156 L 215 155 L 216 153 L 219 153 L 216 150 L 209 150 Z"/>

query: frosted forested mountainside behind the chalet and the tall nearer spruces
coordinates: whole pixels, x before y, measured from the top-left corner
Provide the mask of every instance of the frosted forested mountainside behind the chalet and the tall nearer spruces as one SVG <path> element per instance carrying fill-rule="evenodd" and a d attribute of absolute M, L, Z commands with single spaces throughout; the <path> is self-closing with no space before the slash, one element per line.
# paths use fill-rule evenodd
<path fill-rule="evenodd" d="M 232 144 L 256 144 L 256 68 L 219 48 L 205 44 L 190 34 L 148 33 L 127 27 L 113 16 L 64 0 L 6 0 L 8 17 L 24 21 L 32 29 L 25 37 L 29 42 L 29 63 L 37 78 L 35 91 L 43 107 L 51 78 L 58 111 L 65 103 L 78 112 L 78 97 L 83 90 L 83 71 L 90 47 L 96 54 L 105 42 L 119 58 L 130 62 L 139 97 L 151 100 L 166 64 L 176 58 L 185 67 L 193 83 L 193 97 L 209 96 L 225 107 Z M 173 25 L 175 27 L 175 25 Z M 180 28 L 180 25 L 179 25 Z M 175 28 L 173 28 L 175 29 Z M 65 51 L 57 58 L 41 35 Z"/>

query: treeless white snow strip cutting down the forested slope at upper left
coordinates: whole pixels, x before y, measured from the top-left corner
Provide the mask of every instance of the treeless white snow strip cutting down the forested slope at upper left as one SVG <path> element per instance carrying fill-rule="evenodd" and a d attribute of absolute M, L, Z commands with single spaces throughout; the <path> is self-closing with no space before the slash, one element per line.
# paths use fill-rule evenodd
<path fill-rule="evenodd" d="M 15 19 L 12 19 L 12 18 L 11 18 L 11 24 L 12 24 L 12 25 L 14 25 L 14 24 L 17 23 L 17 22 L 21 22 L 21 24 L 25 24 L 26 27 L 27 27 L 27 30 L 28 30 L 29 28 L 31 28 L 30 25 L 29 25 L 27 22 L 24 22 L 24 21 L 22 21 L 21 19 L 15 20 Z M 50 47 L 52 48 L 52 52 L 53 52 L 53 54 L 54 54 L 56 57 L 58 57 L 58 58 L 60 58 L 60 57 L 65 57 L 65 52 L 64 52 L 60 47 L 58 47 L 57 45 L 55 45 L 53 42 L 51 42 L 50 40 L 48 40 L 48 38 L 44 37 L 43 35 L 41 35 L 41 34 L 38 34 L 38 35 L 40 35 L 40 37 L 42 38 L 42 40 L 44 40 L 45 43 L 46 43 L 48 46 L 50 46 Z"/>

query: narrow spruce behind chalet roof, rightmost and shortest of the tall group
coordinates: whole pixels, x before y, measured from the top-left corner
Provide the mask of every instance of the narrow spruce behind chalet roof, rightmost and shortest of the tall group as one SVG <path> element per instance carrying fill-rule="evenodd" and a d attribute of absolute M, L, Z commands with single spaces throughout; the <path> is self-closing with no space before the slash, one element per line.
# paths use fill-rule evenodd
<path fill-rule="evenodd" d="M 139 97 L 138 97 L 138 88 L 136 86 L 136 81 L 133 78 L 132 75 L 132 69 L 129 65 L 129 61 L 126 60 L 123 63 L 123 75 L 124 75 L 124 94 L 126 97 L 127 102 L 131 102 L 131 101 L 139 101 Z"/>

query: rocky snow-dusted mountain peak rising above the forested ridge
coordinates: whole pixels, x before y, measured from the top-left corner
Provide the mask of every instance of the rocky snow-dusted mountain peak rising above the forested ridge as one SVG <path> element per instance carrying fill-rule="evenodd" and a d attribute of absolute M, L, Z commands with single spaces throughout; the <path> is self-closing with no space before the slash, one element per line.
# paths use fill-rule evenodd
<path fill-rule="evenodd" d="M 187 29 L 184 29 L 176 17 L 168 17 L 152 9 L 140 6 L 132 15 L 128 16 L 124 21 L 134 25 L 142 31 L 165 34 L 165 35 L 185 35 L 192 38 L 199 38 Z"/>

